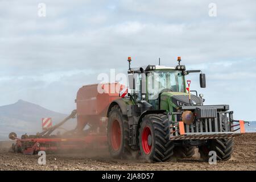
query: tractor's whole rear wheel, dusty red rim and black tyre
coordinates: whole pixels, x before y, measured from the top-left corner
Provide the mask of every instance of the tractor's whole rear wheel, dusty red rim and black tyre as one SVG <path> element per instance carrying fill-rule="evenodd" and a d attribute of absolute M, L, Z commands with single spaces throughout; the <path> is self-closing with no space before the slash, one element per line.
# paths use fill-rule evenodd
<path fill-rule="evenodd" d="M 108 145 L 113 158 L 123 158 L 131 155 L 129 146 L 128 121 L 118 106 L 112 107 L 108 121 Z"/>

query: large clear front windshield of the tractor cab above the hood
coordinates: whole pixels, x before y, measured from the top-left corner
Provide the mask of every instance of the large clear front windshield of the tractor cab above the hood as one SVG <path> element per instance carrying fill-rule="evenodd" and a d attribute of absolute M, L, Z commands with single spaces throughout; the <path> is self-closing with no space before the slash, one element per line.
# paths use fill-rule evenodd
<path fill-rule="evenodd" d="M 156 70 L 147 74 L 148 100 L 156 100 L 159 93 L 185 92 L 184 76 L 181 71 Z"/>

